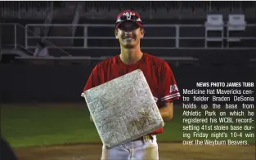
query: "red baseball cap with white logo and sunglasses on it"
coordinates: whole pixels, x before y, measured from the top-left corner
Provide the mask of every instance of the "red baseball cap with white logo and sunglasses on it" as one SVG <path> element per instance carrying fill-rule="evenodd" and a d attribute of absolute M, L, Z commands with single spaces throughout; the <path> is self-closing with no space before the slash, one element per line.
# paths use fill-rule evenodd
<path fill-rule="evenodd" d="M 116 17 L 115 29 L 117 29 L 124 21 L 128 20 L 136 22 L 138 26 L 143 28 L 141 16 L 137 13 L 137 11 L 126 10 L 119 13 L 119 15 Z"/>

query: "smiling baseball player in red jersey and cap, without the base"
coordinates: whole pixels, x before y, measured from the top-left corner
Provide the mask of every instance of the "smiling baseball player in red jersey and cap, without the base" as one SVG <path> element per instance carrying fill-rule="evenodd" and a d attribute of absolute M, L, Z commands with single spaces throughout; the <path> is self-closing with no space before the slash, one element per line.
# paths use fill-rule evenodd
<path fill-rule="evenodd" d="M 173 100 L 178 100 L 180 93 L 168 63 L 141 51 L 140 42 L 143 37 L 141 16 L 130 10 L 119 13 L 115 23 L 115 38 L 119 40 L 120 54 L 103 60 L 94 67 L 83 92 L 141 69 L 162 118 L 170 121 L 173 118 Z M 158 160 L 156 136 L 163 131 L 164 128 L 159 128 L 149 135 L 111 149 L 106 149 L 103 145 L 101 160 Z"/>

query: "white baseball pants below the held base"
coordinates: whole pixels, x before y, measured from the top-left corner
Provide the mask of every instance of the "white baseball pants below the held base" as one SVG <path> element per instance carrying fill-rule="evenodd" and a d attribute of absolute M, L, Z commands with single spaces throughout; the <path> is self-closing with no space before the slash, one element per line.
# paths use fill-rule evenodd
<path fill-rule="evenodd" d="M 153 140 L 136 140 L 111 149 L 103 145 L 101 160 L 159 160 L 156 136 Z"/>

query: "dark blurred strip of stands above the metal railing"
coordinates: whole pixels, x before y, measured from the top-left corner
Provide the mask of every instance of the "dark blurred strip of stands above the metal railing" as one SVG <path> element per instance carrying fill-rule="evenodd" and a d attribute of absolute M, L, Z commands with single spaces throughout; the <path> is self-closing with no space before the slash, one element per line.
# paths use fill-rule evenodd
<path fill-rule="evenodd" d="M 1 16 L 5 18 L 44 19 L 47 11 L 54 8 L 55 18 L 66 19 L 73 14 L 78 2 L 0 2 Z M 256 2 L 79 2 L 80 15 L 86 19 L 113 19 L 120 11 L 132 9 L 138 11 L 143 19 L 205 19 L 209 13 L 245 14 L 247 19 L 255 20 Z"/>

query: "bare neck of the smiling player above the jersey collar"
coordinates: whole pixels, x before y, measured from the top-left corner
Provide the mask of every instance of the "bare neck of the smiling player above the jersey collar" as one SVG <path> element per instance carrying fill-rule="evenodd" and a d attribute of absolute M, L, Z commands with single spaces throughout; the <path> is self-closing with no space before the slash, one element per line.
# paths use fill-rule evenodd
<path fill-rule="evenodd" d="M 124 64 L 136 64 L 142 56 L 143 52 L 139 46 L 134 48 L 121 47 L 120 59 Z"/>

